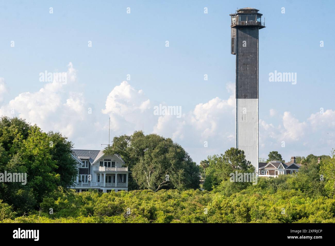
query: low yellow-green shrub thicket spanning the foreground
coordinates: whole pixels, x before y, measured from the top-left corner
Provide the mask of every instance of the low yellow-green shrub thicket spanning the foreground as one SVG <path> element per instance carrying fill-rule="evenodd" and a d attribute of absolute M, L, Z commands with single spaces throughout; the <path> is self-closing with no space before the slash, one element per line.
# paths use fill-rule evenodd
<path fill-rule="evenodd" d="M 296 179 L 290 175 L 260 178 L 257 185 L 232 195 L 192 189 L 59 190 L 44 199 L 41 212 L 14 219 L 7 209 L 8 215 L 0 218 L 6 223 L 335 223 L 335 199 L 307 195 L 308 190 L 298 189 Z M 0 203 L 0 211 L 2 207 Z"/>

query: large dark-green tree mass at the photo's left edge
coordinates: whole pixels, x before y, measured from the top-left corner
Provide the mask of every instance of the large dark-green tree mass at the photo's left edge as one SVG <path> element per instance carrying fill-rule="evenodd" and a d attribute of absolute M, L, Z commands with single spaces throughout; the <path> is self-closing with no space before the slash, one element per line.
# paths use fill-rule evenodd
<path fill-rule="evenodd" d="M 58 186 L 69 187 L 77 173 L 71 147 L 59 133 L 44 133 L 25 120 L 2 117 L 0 173 L 26 173 L 27 182 L 0 182 L 0 199 L 22 214 Z"/>

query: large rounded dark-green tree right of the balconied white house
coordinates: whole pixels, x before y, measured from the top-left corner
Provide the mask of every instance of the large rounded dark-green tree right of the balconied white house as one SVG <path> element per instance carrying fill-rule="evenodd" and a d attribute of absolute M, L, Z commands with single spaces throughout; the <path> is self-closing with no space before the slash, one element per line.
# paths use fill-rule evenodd
<path fill-rule="evenodd" d="M 199 167 L 189 154 L 170 138 L 157 134 L 114 137 L 104 151 L 120 154 L 132 171 L 129 189 L 197 189 Z"/>

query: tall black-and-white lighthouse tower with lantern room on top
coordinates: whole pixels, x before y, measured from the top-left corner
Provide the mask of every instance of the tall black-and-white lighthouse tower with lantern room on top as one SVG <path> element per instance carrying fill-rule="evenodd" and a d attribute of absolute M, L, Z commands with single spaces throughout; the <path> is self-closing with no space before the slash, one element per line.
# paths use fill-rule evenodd
<path fill-rule="evenodd" d="M 258 172 L 258 30 L 265 27 L 258 9 L 231 16 L 231 54 L 236 55 L 236 148 Z"/>

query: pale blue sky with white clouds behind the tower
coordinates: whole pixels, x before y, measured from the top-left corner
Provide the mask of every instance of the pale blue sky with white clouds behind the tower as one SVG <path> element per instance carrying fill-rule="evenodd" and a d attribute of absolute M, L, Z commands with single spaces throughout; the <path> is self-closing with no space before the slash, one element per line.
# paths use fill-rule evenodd
<path fill-rule="evenodd" d="M 260 157 L 272 150 L 285 160 L 329 154 L 335 147 L 334 1 L 1 1 L 0 113 L 15 107 L 15 115 L 67 134 L 76 148 L 100 149 L 111 116 L 111 136 L 143 126 L 146 134 L 172 137 L 197 163 L 223 153 L 234 146 L 235 131 L 227 90 L 235 83 L 229 13 L 243 7 L 259 9 L 266 25 L 259 40 Z M 38 93 L 47 84 L 40 72 L 66 72 L 70 62 L 74 84 Z M 297 83 L 269 82 L 274 70 L 297 73 Z M 121 84 L 127 74 L 131 79 Z M 130 94 L 117 93 L 127 88 Z M 227 104 L 222 112 L 220 101 L 211 101 L 216 97 Z M 159 103 L 181 106 L 185 115 L 159 119 L 152 115 Z M 102 112 L 114 106 L 121 111 Z"/>

